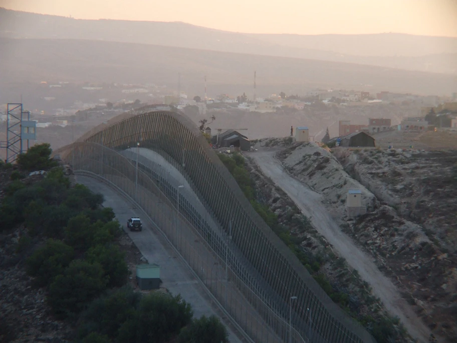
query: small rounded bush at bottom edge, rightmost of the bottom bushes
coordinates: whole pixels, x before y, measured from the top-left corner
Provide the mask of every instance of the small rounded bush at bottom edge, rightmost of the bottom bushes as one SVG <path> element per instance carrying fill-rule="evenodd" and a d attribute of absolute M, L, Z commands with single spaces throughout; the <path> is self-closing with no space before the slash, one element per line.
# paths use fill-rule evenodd
<path fill-rule="evenodd" d="M 225 326 L 215 315 L 201 316 L 184 327 L 178 336 L 179 343 L 228 343 L 229 335 Z"/>

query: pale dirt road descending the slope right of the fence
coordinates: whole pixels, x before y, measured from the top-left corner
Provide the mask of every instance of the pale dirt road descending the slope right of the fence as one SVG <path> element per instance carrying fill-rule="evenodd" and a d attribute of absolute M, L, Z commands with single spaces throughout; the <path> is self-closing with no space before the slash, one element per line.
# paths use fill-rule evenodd
<path fill-rule="evenodd" d="M 363 252 L 352 239 L 343 233 L 338 224 L 322 203 L 323 197 L 291 177 L 276 159 L 278 148 L 259 148 L 246 155 L 254 158 L 263 174 L 269 177 L 292 199 L 303 214 L 310 218 L 316 230 L 333 246 L 335 253 L 344 257 L 356 269 L 361 278 L 373 288 L 373 293 L 381 299 L 386 309 L 400 318 L 409 334 L 419 342 L 427 342 L 429 329 L 400 296 L 398 289 L 376 267 L 371 256 Z"/>

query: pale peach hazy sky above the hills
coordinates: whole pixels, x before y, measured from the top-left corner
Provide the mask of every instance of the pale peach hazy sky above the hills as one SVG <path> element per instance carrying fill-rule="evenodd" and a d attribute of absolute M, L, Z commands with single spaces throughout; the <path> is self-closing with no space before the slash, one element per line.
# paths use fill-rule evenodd
<path fill-rule="evenodd" d="M 0 0 L 0 7 L 78 19 L 179 21 L 245 33 L 457 37 L 457 0 Z"/>

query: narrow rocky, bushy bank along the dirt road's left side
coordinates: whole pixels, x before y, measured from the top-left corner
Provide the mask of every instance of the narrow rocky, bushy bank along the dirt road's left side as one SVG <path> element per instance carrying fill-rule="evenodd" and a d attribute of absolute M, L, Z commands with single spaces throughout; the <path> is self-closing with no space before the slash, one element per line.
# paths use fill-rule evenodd
<path fill-rule="evenodd" d="M 377 321 L 385 318 L 387 312 L 381 301 L 373 295 L 368 283 L 348 266 L 344 258 L 337 256 L 329 242 L 316 231 L 289 196 L 262 174 L 254 159 L 247 158 L 247 168 L 255 184 L 257 200 L 278 216 L 279 224 L 291 233 L 294 241 L 301 242 L 302 251 L 309 260 L 306 267 L 314 276 L 324 275 L 333 288 L 332 299 L 336 303 L 346 299 L 343 308 L 359 318 L 365 315 Z M 412 343 L 413 340 L 401 333 L 398 326 L 395 329 L 398 335 L 396 342 Z"/>

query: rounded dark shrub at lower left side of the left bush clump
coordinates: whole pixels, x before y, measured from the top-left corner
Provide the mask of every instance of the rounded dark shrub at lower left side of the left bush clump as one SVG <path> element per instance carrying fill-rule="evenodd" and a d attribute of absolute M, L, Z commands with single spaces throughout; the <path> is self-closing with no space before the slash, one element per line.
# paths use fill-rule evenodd
<path fill-rule="evenodd" d="M 73 248 L 62 241 L 48 239 L 46 245 L 36 250 L 26 261 L 27 273 L 35 276 L 39 286 L 49 285 L 54 277 L 62 274 L 75 256 Z"/>

